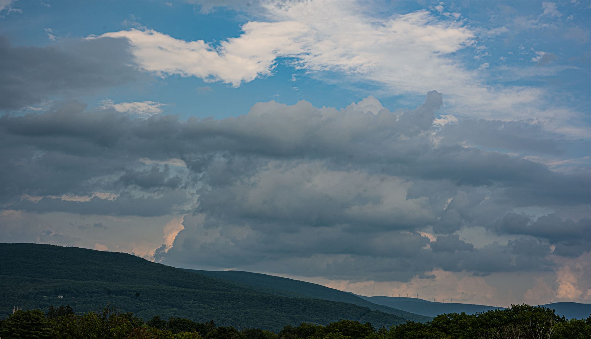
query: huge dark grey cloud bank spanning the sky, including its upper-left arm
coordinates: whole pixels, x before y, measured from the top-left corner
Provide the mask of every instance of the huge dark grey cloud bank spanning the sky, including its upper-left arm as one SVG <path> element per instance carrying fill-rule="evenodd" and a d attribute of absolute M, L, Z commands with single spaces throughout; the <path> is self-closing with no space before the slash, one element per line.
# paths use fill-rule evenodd
<path fill-rule="evenodd" d="M 0 108 L 132 81 L 138 73 L 119 44 L 0 40 Z M 591 248 L 589 218 L 551 213 L 589 210 L 589 172 L 556 172 L 492 150 L 556 155 L 571 141 L 525 122 L 433 127 L 442 102 L 431 91 L 402 114 L 372 97 L 340 110 L 267 102 L 223 120 L 144 120 L 77 101 L 8 112 L 0 118 L 0 204 L 37 214 L 187 214 L 156 259 L 335 279 L 550 270 L 551 256 Z M 516 207 L 548 213 L 536 218 Z M 477 248 L 457 235 L 473 227 L 512 240 Z"/>

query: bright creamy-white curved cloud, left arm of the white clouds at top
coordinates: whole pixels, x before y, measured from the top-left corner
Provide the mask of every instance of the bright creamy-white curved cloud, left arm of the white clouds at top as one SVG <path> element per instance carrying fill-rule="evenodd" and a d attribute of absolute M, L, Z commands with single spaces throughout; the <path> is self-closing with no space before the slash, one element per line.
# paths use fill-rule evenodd
<path fill-rule="evenodd" d="M 249 24 L 273 33 L 270 36 L 258 31 L 248 34 L 251 28 L 245 26 L 243 29 L 247 32 L 246 41 L 223 41 L 219 50 L 203 40 L 177 40 L 154 30 L 120 31 L 100 37 L 124 38 L 121 40 L 129 41 L 139 66 L 155 75 L 196 76 L 237 87 L 257 76 L 271 75 L 277 57 L 277 46 L 287 46 L 290 37 L 305 34 L 306 31 L 305 27 L 296 22 L 282 27 L 260 27 L 262 24 L 258 22 Z M 292 53 L 298 53 L 296 47 Z"/>

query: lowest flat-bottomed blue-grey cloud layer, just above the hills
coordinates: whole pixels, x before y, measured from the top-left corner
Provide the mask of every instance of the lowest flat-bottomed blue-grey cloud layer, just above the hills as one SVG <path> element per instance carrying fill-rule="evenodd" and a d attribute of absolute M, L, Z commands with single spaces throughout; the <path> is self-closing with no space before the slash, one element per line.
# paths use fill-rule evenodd
<path fill-rule="evenodd" d="M 347 227 L 291 227 L 277 233 L 272 224 L 264 231 L 242 224 L 216 221 L 203 215 L 185 217 L 164 263 L 184 267 L 240 267 L 326 279 L 409 281 L 434 267 L 448 272 L 526 272 L 548 270 L 550 250 L 536 241 L 510 241 L 475 249 L 469 244 L 452 248 L 445 237 L 441 247 L 425 247 L 428 238 L 397 231 L 365 231 Z M 271 232 L 271 234 L 269 234 Z M 275 235 L 276 234 L 276 235 Z M 441 238 L 441 237 L 440 237 Z M 281 239 L 280 243 L 277 239 Z M 199 264 L 196 258 L 199 257 Z"/>

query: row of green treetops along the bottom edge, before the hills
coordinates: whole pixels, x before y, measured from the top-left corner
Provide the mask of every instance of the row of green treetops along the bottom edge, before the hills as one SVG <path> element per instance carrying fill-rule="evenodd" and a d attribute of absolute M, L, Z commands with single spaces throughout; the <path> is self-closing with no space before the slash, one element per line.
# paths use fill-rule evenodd
<path fill-rule="evenodd" d="M 148 321 L 112 307 L 76 314 L 70 306 L 17 310 L 0 319 L 2 339 L 591 339 L 591 315 L 559 317 L 543 306 L 512 305 L 476 314 L 441 314 L 428 322 L 389 328 L 340 320 L 328 325 L 287 325 L 279 332 L 217 326 L 186 318 Z"/>

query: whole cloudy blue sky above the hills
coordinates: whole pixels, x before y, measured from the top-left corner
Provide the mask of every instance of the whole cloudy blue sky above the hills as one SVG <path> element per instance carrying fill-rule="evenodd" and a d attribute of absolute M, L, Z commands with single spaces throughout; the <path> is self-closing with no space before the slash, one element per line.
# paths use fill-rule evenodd
<path fill-rule="evenodd" d="M 0 0 L 0 242 L 591 302 L 591 1 Z"/>

